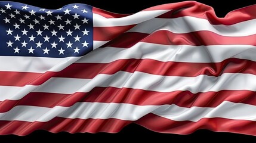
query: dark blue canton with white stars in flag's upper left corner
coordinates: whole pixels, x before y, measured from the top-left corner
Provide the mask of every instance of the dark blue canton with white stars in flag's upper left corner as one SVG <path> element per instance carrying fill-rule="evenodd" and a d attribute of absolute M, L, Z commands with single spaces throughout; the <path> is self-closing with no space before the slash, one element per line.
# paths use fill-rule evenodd
<path fill-rule="evenodd" d="M 93 49 L 92 7 L 70 4 L 57 10 L 0 2 L 0 55 L 82 56 Z"/>

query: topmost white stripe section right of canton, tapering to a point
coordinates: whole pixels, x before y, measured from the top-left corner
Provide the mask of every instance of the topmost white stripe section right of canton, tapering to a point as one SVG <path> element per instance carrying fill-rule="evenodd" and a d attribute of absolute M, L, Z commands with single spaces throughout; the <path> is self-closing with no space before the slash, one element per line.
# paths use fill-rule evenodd
<path fill-rule="evenodd" d="M 142 23 L 152 18 L 158 17 L 170 10 L 153 10 L 153 11 L 140 11 L 138 13 L 128 15 L 121 18 L 106 18 L 99 14 L 93 14 L 94 27 L 110 27 L 110 26 L 127 26 L 132 24 Z"/>

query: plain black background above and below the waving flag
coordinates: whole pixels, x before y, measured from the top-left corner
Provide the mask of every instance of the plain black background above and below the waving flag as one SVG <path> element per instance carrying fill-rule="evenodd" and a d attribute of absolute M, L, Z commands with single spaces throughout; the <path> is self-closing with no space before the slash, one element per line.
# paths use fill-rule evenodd
<path fill-rule="evenodd" d="M 156 0 L 155 2 L 150 2 L 149 0 L 139 0 L 139 1 L 97 1 L 97 0 L 69 0 L 69 1 L 26 1 L 26 0 L 14 0 L 17 2 L 22 2 L 24 4 L 34 5 L 37 7 L 57 9 L 63 7 L 67 4 L 73 3 L 83 3 L 92 5 L 93 7 L 101 8 L 107 11 L 112 11 L 114 13 L 136 13 L 145 8 L 149 8 L 155 5 L 167 4 L 171 2 L 180 2 L 176 0 L 161 1 Z M 138 4 L 140 2 L 140 4 Z M 218 17 L 224 17 L 227 13 L 238 8 L 246 7 L 248 5 L 256 4 L 256 1 L 252 0 L 236 0 L 236 1 L 198 1 L 203 4 L 210 5 L 214 8 L 215 13 Z M 225 4 L 223 3 L 225 2 Z M 256 13 L 256 10 L 255 10 Z M 255 24 L 256 26 L 256 24 Z M 256 129 L 255 129 L 256 130 Z M 139 136 L 136 136 L 139 135 Z M 122 138 L 118 138 L 122 136 Z M 134 141 L 138 140 L 146 141 L 152 139 L 157 139 L 157 141 L 167 141 L 167 142 L 224 142 L 224 141 L 236 141 L 236 142 L 256 142 L 256 136 L 240 135 L 236 133 L 224 133 L 224 132 L 212 132 L 209 130 L 198 130 L 190 135 L 174 135 L 166 133 L 156 133 L 147 130 L 141 126 L 131 124 L 125 127 L 119 133 L 50 133 L 44 130 L 37 130 L 27 136 L 16 136 L 16 135 L 3 135 L 0 136 L 0 143 L 2 142 L 97 142 L 102 140 L 104 142 L 109 141 Z"/>

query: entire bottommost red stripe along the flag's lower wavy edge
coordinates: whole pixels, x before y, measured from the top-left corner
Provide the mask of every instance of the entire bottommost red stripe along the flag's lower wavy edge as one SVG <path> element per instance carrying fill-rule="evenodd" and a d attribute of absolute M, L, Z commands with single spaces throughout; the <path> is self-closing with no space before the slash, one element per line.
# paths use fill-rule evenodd
<path fill-rule="evenodd" d="M 61 131 L 76 132 L 109 132 L 116 133 L 127 126 L 130 121 L 119 119 L 66 119 L 55 117 L 48 122 L 0 121 L 0 135 L 28 135 L 35 130 L 43 129 L 57 133 Z M 256 135 L 256 122 L 249 120 L 232 120 L 223 118 L 205 118 L 198 122 L 174 121 L 147 114 L 135 121 L 147 129 L 162 133 L 190 134 L 198 129 L 208 129 L 217 132 L 233 132 L 246 135 Z"/>

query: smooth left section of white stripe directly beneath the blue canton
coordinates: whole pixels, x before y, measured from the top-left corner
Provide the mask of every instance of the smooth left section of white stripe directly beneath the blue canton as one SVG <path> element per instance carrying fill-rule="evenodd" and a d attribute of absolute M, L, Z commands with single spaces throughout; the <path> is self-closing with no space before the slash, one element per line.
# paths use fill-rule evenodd
<path fill-rule="evenodd" d="M 46 58 L 46 57 L 16 57 L 0 56 L 0 71 L 21 71 L 45 73 L 45 71 L 60 71 L 81 57 Z"/>

